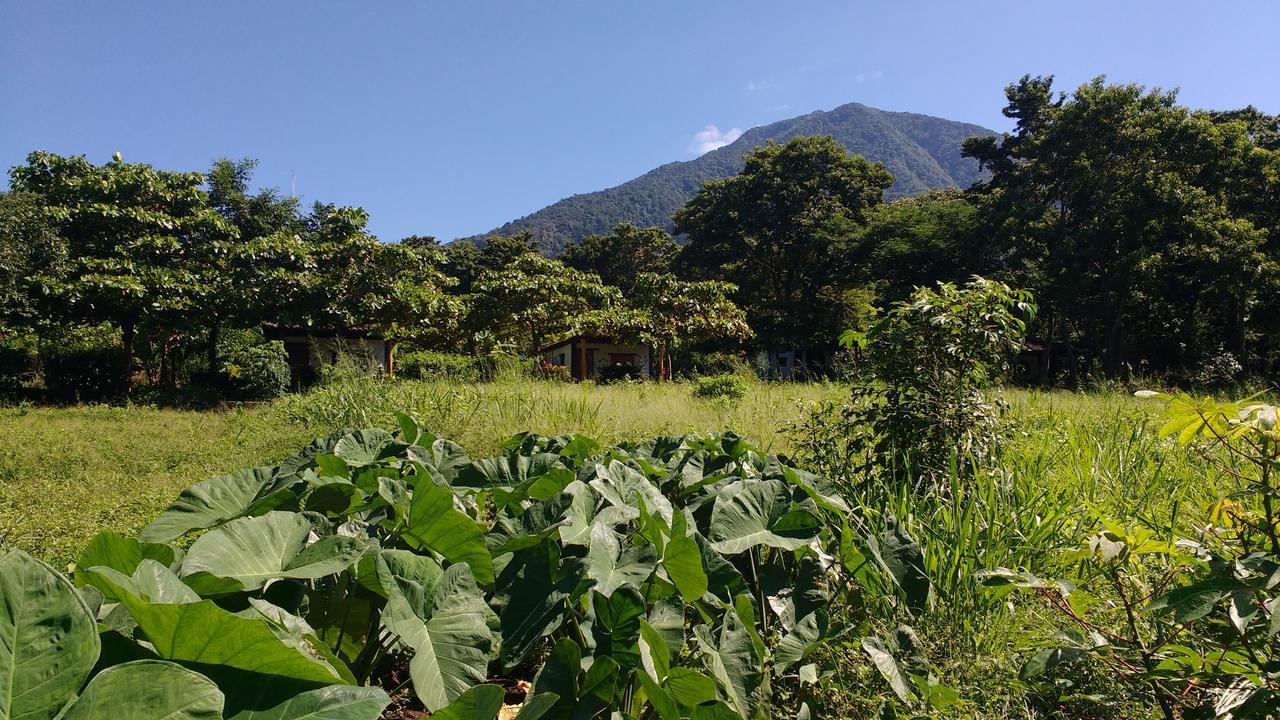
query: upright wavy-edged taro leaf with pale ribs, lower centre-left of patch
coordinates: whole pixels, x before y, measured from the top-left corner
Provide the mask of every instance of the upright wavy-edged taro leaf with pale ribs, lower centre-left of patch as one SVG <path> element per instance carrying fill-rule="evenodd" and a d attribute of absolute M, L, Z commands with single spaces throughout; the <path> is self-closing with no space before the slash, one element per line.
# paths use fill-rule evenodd
<path fill-rule="evenodd" d="M 484 683 L 494 651 L 492 616 L 466 565 L 451 565 L 444 571 L 430 619 L 420 618 L 401 593 L 387 602 L 383 624 L 413 648 L 410 676 L 428 710 L 442 710 Z"/>

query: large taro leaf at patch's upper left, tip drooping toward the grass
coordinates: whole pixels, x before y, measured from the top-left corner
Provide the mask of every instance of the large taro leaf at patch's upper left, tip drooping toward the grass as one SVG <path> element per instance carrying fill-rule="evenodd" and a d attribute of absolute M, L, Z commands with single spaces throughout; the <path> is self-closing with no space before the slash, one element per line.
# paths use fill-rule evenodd
<path fill-rule="evenodd" d="M 278 480 L 276 468 L 250 468 L 198 482 L 142 529 L 143 542 L 170 542 L 192 530 L 215 528 L 228 520 L 265 512 L 293 493 Z"/>

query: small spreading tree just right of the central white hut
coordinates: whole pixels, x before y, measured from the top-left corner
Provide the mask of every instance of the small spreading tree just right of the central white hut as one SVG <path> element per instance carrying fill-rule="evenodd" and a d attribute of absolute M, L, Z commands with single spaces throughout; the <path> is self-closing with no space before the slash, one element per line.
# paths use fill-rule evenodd
<path fill-rule="evenodd" d="M 657 354 L 658 378 L 671 378 L 671 355 L 682 346 L 713 340 L 746 340 L 746 314 L 728 299 L 735 287 L 718 281 L 690 282 L 672 274 L 636 275 L 627 306 L 639 338 Z"/>

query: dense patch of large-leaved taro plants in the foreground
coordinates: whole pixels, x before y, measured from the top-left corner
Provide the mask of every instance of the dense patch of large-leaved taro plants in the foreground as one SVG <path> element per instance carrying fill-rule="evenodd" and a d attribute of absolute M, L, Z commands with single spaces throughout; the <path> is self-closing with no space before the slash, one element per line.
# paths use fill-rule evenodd
<path fill-rule="evenodd" d="M 847 510 L 733 434 L 474 460 L 408 416 L 340 430 L 99 536 L 69 577 L 5 555 L 0 717 L 810 714 Z"/>

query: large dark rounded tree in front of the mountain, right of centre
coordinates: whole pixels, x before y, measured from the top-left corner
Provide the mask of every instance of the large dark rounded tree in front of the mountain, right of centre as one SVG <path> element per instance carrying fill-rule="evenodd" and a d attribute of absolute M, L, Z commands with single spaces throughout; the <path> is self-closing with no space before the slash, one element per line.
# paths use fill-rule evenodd
<path fill-rule="evenodd" d="M 831 137 L 769 143 L 745 163 L 676 214 L 676 232 L 689 236 L 677 266 L 735 283 L 765 345 L 827 345 L 842 329 L 832 319 L 846 315 L 838 304 L 851 287 L 841 245 L 883 202 L 893 177 Z"/>

